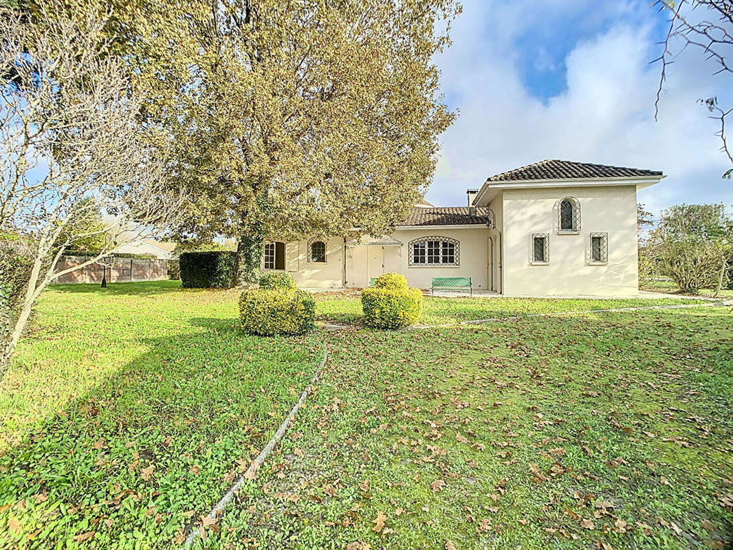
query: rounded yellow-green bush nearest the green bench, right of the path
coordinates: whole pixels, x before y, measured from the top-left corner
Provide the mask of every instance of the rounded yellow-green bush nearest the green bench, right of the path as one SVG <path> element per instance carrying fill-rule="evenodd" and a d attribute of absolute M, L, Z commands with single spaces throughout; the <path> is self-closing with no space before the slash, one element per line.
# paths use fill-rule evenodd
<path fill-rule="evenodd" d="M 420 317 L 421 308 L 419 288 L 374 287 L 361 291 L 364 323 L 377 329 L 400 329 L 412 325 Z"/>

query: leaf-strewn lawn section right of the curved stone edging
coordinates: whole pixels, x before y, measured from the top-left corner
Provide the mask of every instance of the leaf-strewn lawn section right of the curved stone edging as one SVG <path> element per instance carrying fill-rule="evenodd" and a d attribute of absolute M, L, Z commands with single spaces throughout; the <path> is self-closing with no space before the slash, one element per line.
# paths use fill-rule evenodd
<path fill-rule="evenodd" d="M 726 548 L 725 309 L 330 341 L 317 394 L 211 548 Z M 351 545 L 351 546 L 349 546 Z"/>

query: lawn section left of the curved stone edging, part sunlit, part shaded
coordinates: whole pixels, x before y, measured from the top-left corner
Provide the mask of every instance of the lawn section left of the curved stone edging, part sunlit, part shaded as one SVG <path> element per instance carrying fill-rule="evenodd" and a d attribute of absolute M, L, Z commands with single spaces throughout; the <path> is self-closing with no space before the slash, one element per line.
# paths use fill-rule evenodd
<path fill-rule="evenodd" d="M 0 548 L 169 545 L 295 403 L 320 337 L 248 337 L 237 293 L 179 287 L 44 294 L 0 386 Z"/>

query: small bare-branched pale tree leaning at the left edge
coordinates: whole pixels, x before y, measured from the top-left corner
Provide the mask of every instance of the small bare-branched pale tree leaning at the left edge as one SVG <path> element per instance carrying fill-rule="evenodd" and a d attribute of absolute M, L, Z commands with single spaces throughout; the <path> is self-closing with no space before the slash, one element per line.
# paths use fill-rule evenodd
<path fill-rule="evenodd" d="M 0 231 L 15 238 L 1 255 L 0 286 L 18 296 L 6 301 L 0 378 L 52 279 L 171 227 L 183 205 L 182 195 L 161 186 L 163 165 L 136 120 L 140 100 L 106 55 L 103 5 L 63 13 L 62 4 L 45 1 L 23 17 L 0 11 L 0 65 L 12 67 L 0 87 Z M 57 270 L 73 243 L 95 246 L 96 255 Z"/>

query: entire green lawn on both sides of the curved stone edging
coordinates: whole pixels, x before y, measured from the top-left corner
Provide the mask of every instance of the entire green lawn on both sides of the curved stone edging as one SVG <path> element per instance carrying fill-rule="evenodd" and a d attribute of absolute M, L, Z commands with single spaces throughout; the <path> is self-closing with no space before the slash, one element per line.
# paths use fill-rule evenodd
<path fill-rule="evenodd" d="M 0 549 L 174 547 L 268 441 L 324 339 L 317 391 L 203 546 L 733 538 L 726 309 L 260 339 L 237 328 L 237 292 L 179 286 L 44 294 L 0 384 Z M 427 298 L 421 321 L 637 302 Z M 361 316 L 348 296 L 317 311 Z"/>

